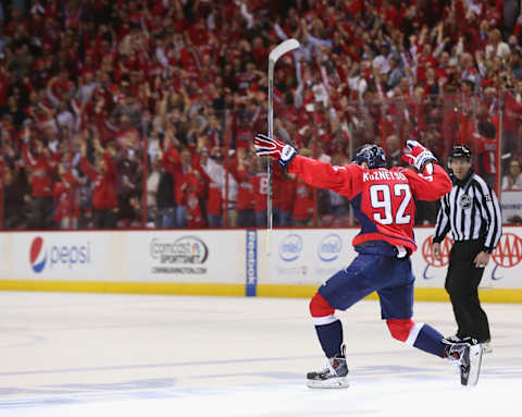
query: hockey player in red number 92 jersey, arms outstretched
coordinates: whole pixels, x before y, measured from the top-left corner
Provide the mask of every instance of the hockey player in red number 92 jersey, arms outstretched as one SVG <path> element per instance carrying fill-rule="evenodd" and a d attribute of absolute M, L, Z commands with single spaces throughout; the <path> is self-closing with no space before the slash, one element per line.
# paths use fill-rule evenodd
<path fill-rule="evenodd" d="M 258 156 L 270 156 L 290 173 L 310 185 L 346 196 L 361 225 L 353 238 L 358 253 L 351 265 L 330 278 L 310 302 L 319 342 L 328 358 L 327 368 L 309 372 L 310 388 L 347 388 L 348 366 L 343 327 L 335 309 L 346 310 L 366 295 L 377 292 L 381 316 L 393 338 L 442 358 L 457 361 L 461 383 L 478 381 L 482 348 L 471 343 L 451 343 L 426 323 L 415 323 L 410 255 L 415 205 L 413 197 L 436 200 L 451 189 L 444 169 L 434 164 L 433 154 L 415 140 L 408 140 L 403 159 L 412 170 L 387 170 L 385 155 L 376 145 L 359 148 L 351 164 L 333 167 L 297 155 L 296 149 L 275 138 L 258 134 L 253 139 Z"/>

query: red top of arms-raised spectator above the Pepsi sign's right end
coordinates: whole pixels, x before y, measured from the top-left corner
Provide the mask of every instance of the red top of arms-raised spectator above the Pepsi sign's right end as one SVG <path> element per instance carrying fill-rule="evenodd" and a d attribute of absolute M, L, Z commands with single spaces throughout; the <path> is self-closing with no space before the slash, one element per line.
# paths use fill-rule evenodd
<path fill-rule="evenodd" d="M 82 158 L 80 167 L 84 174 L 95 184 L 92 191 L 92 207 L 96 210 L 109 210 L 117 207 L 117 171 L 109 154 L 103 154 L 105 172 L 99 173 L 90 164 L 87 158 Z"/>

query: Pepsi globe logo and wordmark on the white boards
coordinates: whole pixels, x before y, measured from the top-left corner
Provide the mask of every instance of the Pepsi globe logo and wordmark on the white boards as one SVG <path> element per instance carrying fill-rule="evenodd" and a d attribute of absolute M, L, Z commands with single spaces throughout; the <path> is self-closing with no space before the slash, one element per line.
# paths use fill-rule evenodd
<path fill-rule="evenodd" d="M 36 273 L 44 271 L 48 265 L 51 270 L 72 269 L 79 265 L 90 263 L 90 242 L 86 242 L 84 245 L 46 245 L 42 237 L 36 236 L 30 244 L 29 262 Z"/>

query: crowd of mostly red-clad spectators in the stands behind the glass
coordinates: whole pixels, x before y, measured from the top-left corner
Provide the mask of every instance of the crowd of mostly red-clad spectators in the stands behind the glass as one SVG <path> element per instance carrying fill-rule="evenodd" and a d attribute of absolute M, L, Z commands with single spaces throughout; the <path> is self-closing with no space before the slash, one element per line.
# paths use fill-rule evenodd
<path fill-rule="evenodd" d="M 344 164 L 370 142 L 393 167 L 408 138 L 442 161 L 468 143 L 493 186 L 498 167 L 518 167 L 502 188 L 520 186 L 519 9 L 0 2 L 3 228 L 264 226 L 266 161 L 251 139 L 266 128 L 268 53 L 289 37 L 301 47 L 277 63 L 274 133 L 301 154 Z M 345 198 L 274 169 L 276 225 L 348 224 Z M 418 222 L 433 222 L 436 207 L 421 207 Z"/>

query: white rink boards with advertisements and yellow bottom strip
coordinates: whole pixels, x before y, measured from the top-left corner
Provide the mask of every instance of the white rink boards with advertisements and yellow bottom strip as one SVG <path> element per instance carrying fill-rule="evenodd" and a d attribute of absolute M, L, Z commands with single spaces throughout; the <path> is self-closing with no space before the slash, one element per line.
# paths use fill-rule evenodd
<path fill-rule="evenodd" d="M 451 241 L 432 256 L 415 230 L 415 298 L 446 301 Z M 522 303 L 522 228 L 505 228 L 481 284 L 484 302 Z M 346 268 L 357 229 L 14 232 L 0 234 L 0 289 L 308 297 Z"/>

